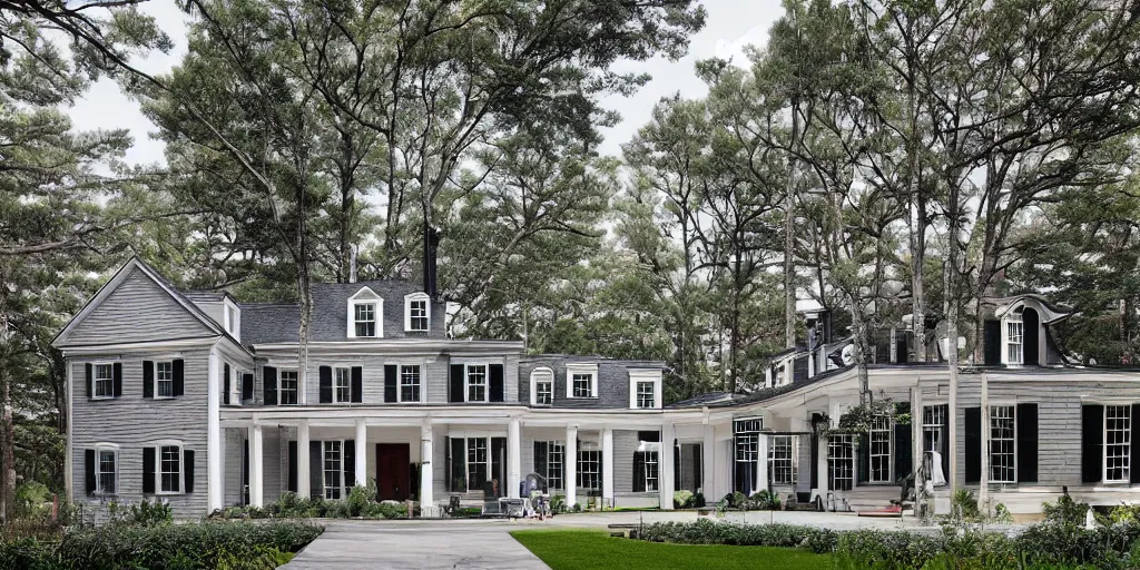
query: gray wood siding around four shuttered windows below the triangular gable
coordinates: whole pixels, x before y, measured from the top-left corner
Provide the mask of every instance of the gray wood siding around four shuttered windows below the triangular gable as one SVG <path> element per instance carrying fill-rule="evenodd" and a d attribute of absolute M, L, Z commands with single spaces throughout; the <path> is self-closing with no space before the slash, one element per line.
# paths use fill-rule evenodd
<path fill-rule="evenodd" d="M 142 360 L 180 357 L 185 364 L 184 396 L 169 400 L 142 398 Z M 107 400 L 87 398 L 84 364 L 108 359 L 75 359 L 72 367 L 72 466 L 76 503 L 98 504 L 88 497 L 84 480 L 84 450 L 107 442 L 119 449 L 120 504 L 142 499 L 142 448 L 158 440 L 180 440 L 182 449 L 193 449 L 194 492 L 163 495 L 174 516 L 206 514 L 206 367 L 209 350 L 181 352 L 152 351 L 121 355 L 123 394 Z"/>

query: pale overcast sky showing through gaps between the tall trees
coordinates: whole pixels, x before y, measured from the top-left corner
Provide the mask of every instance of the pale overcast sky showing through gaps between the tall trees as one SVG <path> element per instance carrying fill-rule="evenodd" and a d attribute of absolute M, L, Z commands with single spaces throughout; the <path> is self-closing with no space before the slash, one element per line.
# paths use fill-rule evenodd
<path fill-rule="evenodd" d="M 624 62 L 617 71 L 646 72 L 653 76 L 633 97 L 609 97 L 604 105 L 621 114 L 618 125 L 606 129 L 601 152 L 618 155 L 620 145 L 633 136 L 650 119 L 656 104 L 662 97 L 681 92 L 683 97 L 705 95 L 705 84 L 693 73 L 693 63 L 709 57 L 744 60 L 743 47 L 763 44 L 768 27 L 783 13 L 779 0 L 705 0 L 708 22 L 693 36 L 689 55 L 678 60 L 663 58 L 650 62 Z M 170 70 L 186 52 L 186 23 L 182 13 L 170 0 L 146 2 L 144 10 L 153 14 L 158 24 L 174 41 L 174 49 L 166 55 L 158 54 L 137 62 L 145 71 L 161 73 Z M 92 85 L 91 91 L 71 111 L 75 129 L 129 128 L 135 137 L 135 146 L 127 153 L 131 164 L 162 163 L 162 142 L 150 138 L 155 130 L 150 121 L 142 116 L 138 105 L 124 97 L 113 81 L 103 80 Z"/>

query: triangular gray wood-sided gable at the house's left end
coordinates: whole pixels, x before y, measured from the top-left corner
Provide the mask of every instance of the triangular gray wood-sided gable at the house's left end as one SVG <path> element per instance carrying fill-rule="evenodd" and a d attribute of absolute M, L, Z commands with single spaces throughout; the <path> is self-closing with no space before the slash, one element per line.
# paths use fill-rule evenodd
<path fill-rule="evenodd" d="M 212 336 L 201 320 L 140 269 L 72 329 L 62 347 Z"/>

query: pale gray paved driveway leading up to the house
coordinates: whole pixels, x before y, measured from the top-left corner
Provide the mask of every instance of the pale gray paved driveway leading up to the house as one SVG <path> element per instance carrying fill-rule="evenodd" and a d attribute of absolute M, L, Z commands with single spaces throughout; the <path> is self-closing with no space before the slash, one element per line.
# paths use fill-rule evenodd
<path fill-rule="evenodd" d="M 321 521 L 325 532 L 284 568 L 308 569 L 545 569 L 508 534 L 516 529 L 597 528 L 638 522 L 687 522 L 689 512 L 563 514 L 545 521 L 496 519 Z M 733 522 L 804 524 L 836 530 L 915 529 L 910 519 L 868 519 L 852 513 L 750 512 Z"/>

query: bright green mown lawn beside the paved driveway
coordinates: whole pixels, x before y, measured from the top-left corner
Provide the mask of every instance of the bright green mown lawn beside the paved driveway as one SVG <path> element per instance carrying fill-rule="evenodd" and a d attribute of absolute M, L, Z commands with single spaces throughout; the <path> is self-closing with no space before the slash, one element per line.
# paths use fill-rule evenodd
<path fill-rule="evenodd" d="M 766 546 L 690 546 L 613 538 L 601 530 L 516 530 L 515 540 L 554 570 L 606 568 L 831 570 L 831 556 Z"/>

